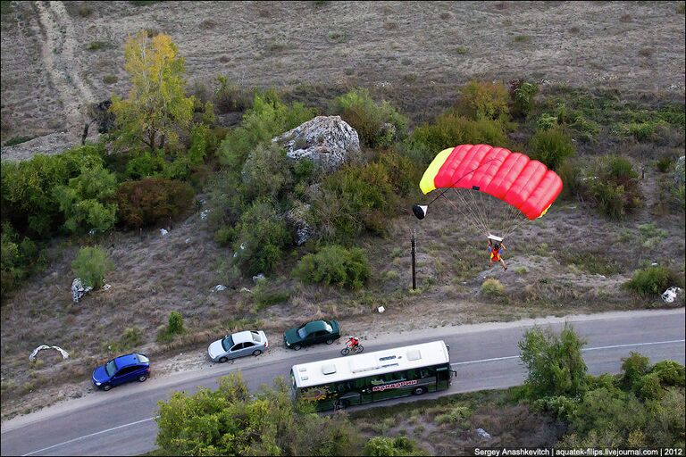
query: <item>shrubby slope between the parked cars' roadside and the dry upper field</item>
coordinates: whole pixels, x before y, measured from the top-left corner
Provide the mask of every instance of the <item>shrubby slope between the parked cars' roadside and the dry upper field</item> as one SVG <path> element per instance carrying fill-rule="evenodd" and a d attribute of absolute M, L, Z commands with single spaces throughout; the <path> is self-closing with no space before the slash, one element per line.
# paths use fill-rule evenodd
<path fill-rule="evenodd" d="M 481 307 L 478 316 L 436 318 L 445 325 L 654 307 L 663 287 L 683 287 L 683 104 L 627 101 L 615 91 L 538 87 L 522 79 L 474 80 L 445 112 L 414 123 L 412 113 L 365 87 L 322 102 L 313 87 L 280 93 L 238 87 L 222 76 L 215 87 L 187 85 L 171 37 L 152 35 L 126 43 L 132 88 L 125 98 L 113 96 L 113 129 L 99 143 L 3 162 L 3 319 L 28 328 L 54 322 L 45 335 L 16 328 L 4 333 L 4 368 L 16 379 L 4 384 L 3 400 L 33 390 L 25 385 L 52 382 L 55 367 L 29 373 L 22 363 L 26 345 L 41 344 L 46 335 L 66 347 L 79 342 L 79 356 L 65 363 L 108 355 L 103 347 L 110 344 L 88 345 L 86 336 L 58 331 L 75 321 L 84 327 L 98 322 L 90 336 L 98 341 L 136 340 L 155 354 L 200 347 L 238 323 L 278 332 L 305 315 L 354 319 L 379 306 L 402 313 L 417 303 L 461 299 Z M 238 124 L 226 127 L 221 116 L 227 114 L 236 114 Z M 324 175 L 272 144 L 272 137 L 316 115 L 340 115 L 355 128 L 363 158 Z M 531 154 L 564 181 L 565 193 L 548 215 L 508 245 L 507 260 L 520 262 L 511 276 L 480 277 L 488 268 L 484 240 L 448 206 L 437 207 L 422 225 L 407 222 L 411 204 L 425 200 L 417 188 L 423 170 L 440 150 L 465 143 Z M 297 245 L 285 220 L 289 212 L 302 212 L 313 228 L 304 245 Z M 159 229 L 173 232 L 186 221 L 196 225 L 183 226 L 188 237 L 178 244 L 150 241 Z M 422 256 L 416 290 L 409 287 L 407 247 L 414 228 Z M 602 235 L 590 237 L 591 231 Z M 71 275 L 63 265 L 80 248 L 95 246 L 111 260 L 97 257 L 100 266 L 91 270 L 106 265 L 108 274 L 119 275 L 123 292 L 117 295 L 114 287 L 110 295 L 85 298 L 102 306 L 76 308 L 68 294 L 57 292 L 68 290 L 72 278 L 58 281 L 59 275 L 43 272 Z M 181 252 L 197 262 L 188 278 L 178 273 Z M 156 278 L 165 268 L 168 274 Z M 268 282 L 256 288 L 251 279 L 260 274 Z M 146 282 L 152 298 L 129 287 L 138 281 Z M 37 284 L 53 287 L 53 296 L 38 294 Z M 228 287 L 230 298 L 214 294 L 215 285 Z M 164 295 L 174 287 L 180 292 Z M 244 287 L 248 291 L 240 292 Z M 683 304 L 682 296 L 675 304 Z M 113 306 L 121 312 L 107 314 Z M 134 307 L 136 322 L 121 318 Z M 186 317 L 183 331 L 171 331 L 171 312 Z M 130 331 L 134 324 L 140 334 Z M 25 342 L 21 348 L 6 349 L 18 340 Z"/>

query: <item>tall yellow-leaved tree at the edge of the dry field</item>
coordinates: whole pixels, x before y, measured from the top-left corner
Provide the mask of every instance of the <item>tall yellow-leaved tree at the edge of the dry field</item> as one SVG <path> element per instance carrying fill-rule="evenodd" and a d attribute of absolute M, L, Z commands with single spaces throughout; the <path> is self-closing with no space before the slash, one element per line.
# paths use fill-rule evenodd
<path fill-rule="evenodd" d="M 193 119 L 193 97 L 185 94 L 184 59 L 171 37 L 160 34 L 148 41 L 146 32 L 124 45 L 124 69 L 131 79 L 127 99 L 112 97 L 122 144 L 143 143 L 151 151 L 176 143 L 178 129 Z"/>

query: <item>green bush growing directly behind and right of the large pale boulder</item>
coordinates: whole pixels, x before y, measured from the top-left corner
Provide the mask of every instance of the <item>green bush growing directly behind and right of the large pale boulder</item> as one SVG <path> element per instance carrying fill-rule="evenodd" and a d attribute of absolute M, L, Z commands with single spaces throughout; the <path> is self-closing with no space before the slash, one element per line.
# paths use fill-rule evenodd
<path fill-rule="evenodd" d="M 388 147 L 406 136 L 407 118 L 386 101 L 374 102 L 364 88 L 356 88 L 336 98 L 331 111 L 356 129 L 361 145 Z"/>

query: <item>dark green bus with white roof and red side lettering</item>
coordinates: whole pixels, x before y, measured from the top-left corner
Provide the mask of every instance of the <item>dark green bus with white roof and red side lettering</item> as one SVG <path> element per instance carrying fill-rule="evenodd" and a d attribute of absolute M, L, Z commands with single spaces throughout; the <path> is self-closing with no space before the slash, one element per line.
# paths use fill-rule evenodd
<path fill-rule="evenodd" d="M 294 399 L 326 411 L 446 390 L 454 373 L 448 345 L 434 341 L 294 365 L 290 378 Z"/>

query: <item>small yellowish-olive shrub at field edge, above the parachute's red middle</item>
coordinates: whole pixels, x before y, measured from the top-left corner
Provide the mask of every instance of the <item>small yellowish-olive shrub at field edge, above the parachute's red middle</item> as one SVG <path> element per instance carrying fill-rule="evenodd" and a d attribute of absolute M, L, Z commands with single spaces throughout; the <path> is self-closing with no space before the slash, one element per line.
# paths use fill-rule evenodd
<path fill-rule="evenodd" d="M 509 120 L 508 94 L 502 82 L 469 81 L 456 104 L 459 114 L 473 120 Z"/>

